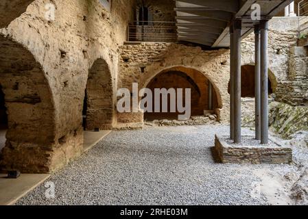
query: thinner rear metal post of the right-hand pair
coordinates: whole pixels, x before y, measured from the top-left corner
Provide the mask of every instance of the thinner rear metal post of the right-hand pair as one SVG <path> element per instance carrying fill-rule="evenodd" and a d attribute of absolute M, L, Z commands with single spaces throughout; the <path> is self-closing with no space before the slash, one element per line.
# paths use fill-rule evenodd
<path fill-rule="evenodd" d="M 255 138 L 261 140 L 261 129 L 260 129 L 260 96 L 261 96 L 261 79 L 260 79 L 260 27 L 259 25 L 254 26 L 254 96 L 255 96 Z"/>

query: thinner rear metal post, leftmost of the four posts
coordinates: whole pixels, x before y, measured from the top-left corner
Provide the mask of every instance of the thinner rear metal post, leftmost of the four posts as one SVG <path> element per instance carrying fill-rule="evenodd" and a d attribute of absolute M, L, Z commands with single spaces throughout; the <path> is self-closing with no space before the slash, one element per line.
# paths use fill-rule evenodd
<path fill-rule="evenodd" d="M 230 139 L 234 140 L 234 31 L 230 26 Z"/>

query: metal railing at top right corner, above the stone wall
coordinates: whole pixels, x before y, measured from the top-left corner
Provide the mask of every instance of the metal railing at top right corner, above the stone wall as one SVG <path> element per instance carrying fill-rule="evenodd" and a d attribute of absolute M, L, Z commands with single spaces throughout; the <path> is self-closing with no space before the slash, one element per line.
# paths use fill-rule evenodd
<path fill-rule="evenodd" d="M 298 3 L 298 38 L 308 34 L 308 0 Z"/>

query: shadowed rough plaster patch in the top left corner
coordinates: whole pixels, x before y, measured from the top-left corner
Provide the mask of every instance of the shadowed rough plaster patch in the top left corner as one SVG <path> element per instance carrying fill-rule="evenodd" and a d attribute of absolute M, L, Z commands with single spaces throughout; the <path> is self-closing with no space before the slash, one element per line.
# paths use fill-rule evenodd
<path fill-rule="evenodd" d="M 8 26 L 15 18 L 21 16 L 32 1 L 34 0 L 1 0 L 0 28 Z"/>

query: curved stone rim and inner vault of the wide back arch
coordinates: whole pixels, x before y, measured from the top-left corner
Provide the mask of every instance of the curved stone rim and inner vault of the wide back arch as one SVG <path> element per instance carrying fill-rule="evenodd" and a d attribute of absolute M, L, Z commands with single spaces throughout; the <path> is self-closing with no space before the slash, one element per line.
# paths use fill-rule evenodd
<path fill-rule="evenodd" d="M 218 118 L 220 118 L 220 109 L 222 108 L 222 95 L 220 93 L 220 90 L 217 88 L 217 85 L 209 75 L 206 75 L 205 73 L 202 73 L 200 70 L 197 70 L 196 68 L 191 68 L 187 66 L 173 66 L 169 68 L 164 68 L 163 70 L 159 70 L 151 77 L 145 79 L 142 88 L 149 88 L 151 86 L 151 83 L 156 79 L 156 77 L 159 77 L 159 75 L 164 75 L 168 73 L 182 73 L 187 76 L 187 81 L 191 84 L 192 90 L 196 90 L 196 94 L 198 95 L 198 92 L 200 92 L 200 99 L 198 99 L 198 110 L 193 112 L 193 115 L 202 115 L 204 110 L 209 110 L 208 107 L 208 92 L 207 92 L 207 86 L 209 83 L 213 86 L 213 110 L 215 110 L 215 113 L 217 114 Z M 188 80 L 190 79 L 190 80 Z M 202 85 L 204 83 L 204 85 Z M 195 89 L 196 88 L 196 89 Z M 191 94 L 193 96 L 193 94 Z M 193 100 L 192 100 L 193 102 Z M 201 109 L 201 107 L 204 107 Z"/>

